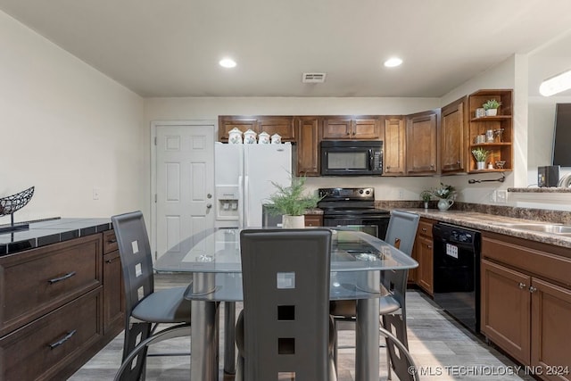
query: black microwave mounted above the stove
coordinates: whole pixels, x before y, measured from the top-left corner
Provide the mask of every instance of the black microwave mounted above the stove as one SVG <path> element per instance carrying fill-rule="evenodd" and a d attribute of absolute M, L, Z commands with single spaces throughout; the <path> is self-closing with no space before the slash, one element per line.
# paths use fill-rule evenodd
<path fill-rule="evenodd" d="M 383 174 L 381 140 L 322 140 L 321 176 Z"/>

